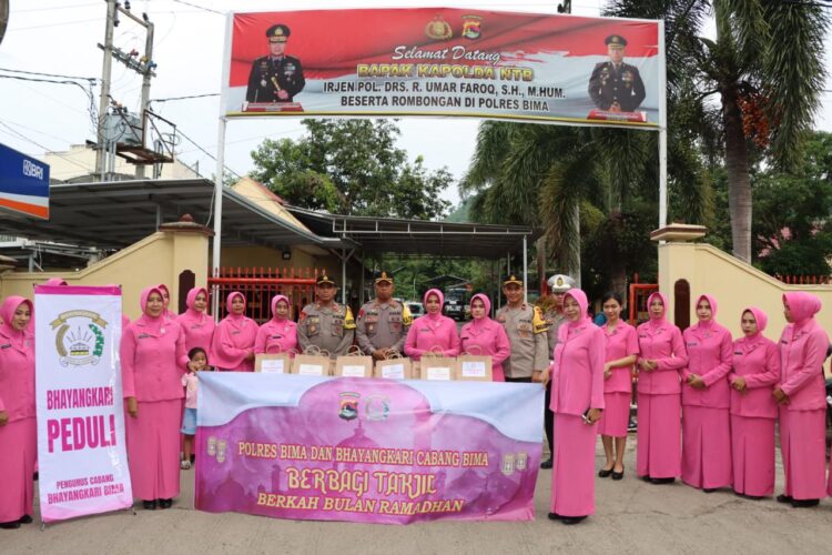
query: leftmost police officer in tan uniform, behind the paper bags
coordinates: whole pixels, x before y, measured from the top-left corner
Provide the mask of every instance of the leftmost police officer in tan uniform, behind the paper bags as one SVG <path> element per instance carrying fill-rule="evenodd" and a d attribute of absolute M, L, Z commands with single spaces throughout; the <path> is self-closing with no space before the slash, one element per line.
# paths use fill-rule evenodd
<path fill-rule="evenodd" d="M 334 301 L 335 282 L 326 274 L 321 275 L 315 283 L 314 303 L 310 303 L 301 311 L 297 322 L 297 344 L 302 351 L 312 345 L 327 351 L 329 356 L 346 354 L 353 344 L 355 321 L 349 306 Z"/>

